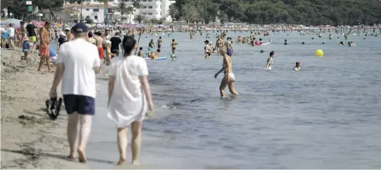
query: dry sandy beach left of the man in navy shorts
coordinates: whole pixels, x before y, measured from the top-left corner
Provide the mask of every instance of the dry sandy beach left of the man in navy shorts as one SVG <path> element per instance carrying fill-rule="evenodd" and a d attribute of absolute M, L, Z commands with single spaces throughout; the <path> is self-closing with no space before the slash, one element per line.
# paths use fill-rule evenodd
<path fill-rule="evenodd" d="M 20 61 L 21 55 L 1 50 L 1 169 L 89 169 L 65 159 L 65 111 L 55 121 L 46 115 L 54 73 L 37 72 L 37 53 L 28 63 Z"/>

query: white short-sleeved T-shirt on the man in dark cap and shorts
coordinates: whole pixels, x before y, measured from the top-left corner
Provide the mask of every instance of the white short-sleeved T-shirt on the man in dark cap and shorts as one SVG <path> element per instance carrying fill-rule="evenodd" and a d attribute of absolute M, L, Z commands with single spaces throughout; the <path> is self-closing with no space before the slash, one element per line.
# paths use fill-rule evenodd
<path fill-rule="evenodd" d="M 74 39 L 59 47 L 57 64 L 64 64 L 62 77 L 63 95 L 94 97 L 95 73 L 100 66 L 97 46 L 85 39 Z"/>

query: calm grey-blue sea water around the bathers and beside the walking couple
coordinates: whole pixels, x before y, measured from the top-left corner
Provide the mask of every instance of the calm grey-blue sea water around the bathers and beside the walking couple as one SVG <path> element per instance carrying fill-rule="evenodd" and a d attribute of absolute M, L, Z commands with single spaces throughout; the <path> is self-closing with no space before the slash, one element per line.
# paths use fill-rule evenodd
<path fill-rule="evenodd" d="M 234 39 L 239 35 L 249 32 L 227 33 Z M 311 40 L 294 32 L 262 37 L 272 39 L 269 46 L 234 44 L 240 95 L 225 100 L 219 98 L 223 75 L 213 77 L 222 57 L 204 59 L 205 34 L 192 40 L 187 34 L 162 35 L 162 56 L 171 54 L 173 38 L 183 52 L 175 62 L 147 60 L 156 117 L 144 123 L 142 168 L 380 169 L 381 39 L 333 35 L 342 40 L 328 40 L 328 33 Z M 158 37 L 142 35 L 140 46 L 150 39 Z M 284 39 L 290 45 L 284 46 Z M 339 41 L 357 47 L 337 46 Z M 315 57 L 316 49 L 327 55 Z M 275 50 L 274 65 L 264 70 L 270 50 Z M 292 71 L 297 61 L 300 72 Z M 106 89 L 100 75 L 87 154 L 104 162 L 90 161 L 93 169 L 114 168 L 118 160 Z"/>

